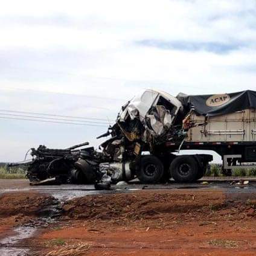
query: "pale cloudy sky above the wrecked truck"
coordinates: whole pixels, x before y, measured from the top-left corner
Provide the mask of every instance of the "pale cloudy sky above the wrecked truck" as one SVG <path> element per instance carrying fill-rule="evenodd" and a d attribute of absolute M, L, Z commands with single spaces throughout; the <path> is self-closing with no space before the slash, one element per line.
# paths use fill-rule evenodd
<path fill-rule="evenodd" d="M 1 110 L 115 120 L 141 88 L 256 89 L 255 0 L 9 0 L 0 31 Z M 0 161 L 39 144 L 97 146 L 107 127 L 0 122 Z"/>

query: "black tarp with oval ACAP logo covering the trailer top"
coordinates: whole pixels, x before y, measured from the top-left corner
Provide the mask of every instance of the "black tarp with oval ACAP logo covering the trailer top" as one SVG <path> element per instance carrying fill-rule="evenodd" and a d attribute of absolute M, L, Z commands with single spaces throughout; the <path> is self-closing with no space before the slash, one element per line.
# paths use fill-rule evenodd
<path fill-rule="evenodd" d="M 177 98 L 185 108 L 194 107 L 197 113 L 209 117 L 256 108 L 256 91 L 249 90 L 216 95 L 186 95 L 179 93 Z M 220 106 L 214 106 L 214 104 L 220 104 Z"/>

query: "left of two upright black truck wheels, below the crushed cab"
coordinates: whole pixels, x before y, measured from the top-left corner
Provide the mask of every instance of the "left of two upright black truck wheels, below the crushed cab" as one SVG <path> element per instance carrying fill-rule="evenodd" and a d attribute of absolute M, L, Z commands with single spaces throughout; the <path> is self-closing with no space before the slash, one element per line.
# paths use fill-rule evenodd
<path fill-rule="evenodd" d="M 164 174 L 164 166 L 156 156 L 142 156 L 137 176 L 144 184 L 158 183 Z"/>

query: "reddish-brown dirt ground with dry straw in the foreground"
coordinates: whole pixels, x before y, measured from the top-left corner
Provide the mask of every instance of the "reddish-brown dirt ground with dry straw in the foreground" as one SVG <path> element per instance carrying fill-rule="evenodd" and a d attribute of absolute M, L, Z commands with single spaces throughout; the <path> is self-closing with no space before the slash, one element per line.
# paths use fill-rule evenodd
<path fill-rule="evenodd" d="M 0 197 L 0 234 L 42 214 L 52 197 Z M 8 221 L 5 222 L 8 216 Z M 62 216 L 39 228 L 30 255 L 256 255 L 256 196 L 223 191 L 156 190 L 66 201 Z"/>

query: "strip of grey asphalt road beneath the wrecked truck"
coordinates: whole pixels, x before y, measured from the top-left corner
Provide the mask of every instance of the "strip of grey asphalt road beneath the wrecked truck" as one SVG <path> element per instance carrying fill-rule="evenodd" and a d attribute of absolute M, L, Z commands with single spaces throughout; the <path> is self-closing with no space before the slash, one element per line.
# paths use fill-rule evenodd
<path fill-rule="evenodd" d="M 129 193 L 135 190 L 222 190 L 226 194 L 255 194 L 256 179 L 246 179 L 249 184 L 237 184 L 241 178 L 203 178 L 196 183 L 177 184 L 170 181 L 168 184 L 139 184 L 138 181 L 129 184 L 112 185 L 111 190 L 95 190 L 94 185 L 40 185 L 30 186 L 27 179 L 0 179 L 0 194 L 12 191 L 37 191 L 40 193 L 51 194 L 59 200 L 65 201 L 74 197 L 85 196 L 88 194 L 104 193 Z"/>

